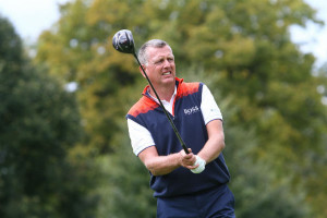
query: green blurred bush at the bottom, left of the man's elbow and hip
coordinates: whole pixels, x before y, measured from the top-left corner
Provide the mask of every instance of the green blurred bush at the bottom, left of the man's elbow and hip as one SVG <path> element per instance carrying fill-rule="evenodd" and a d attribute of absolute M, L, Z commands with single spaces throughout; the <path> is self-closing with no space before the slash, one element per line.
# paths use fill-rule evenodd
<path fill-rule="evenodd" d="M 156 199 L 149 189 L 149 173 L 132 153 L 130 140 L 122 132 L 116 135 L 114 154 L 98 158 L 104 182 L 98 185 L 100 198 L 97 217 L 128 218 L 156 217 Z"/>

